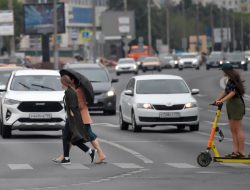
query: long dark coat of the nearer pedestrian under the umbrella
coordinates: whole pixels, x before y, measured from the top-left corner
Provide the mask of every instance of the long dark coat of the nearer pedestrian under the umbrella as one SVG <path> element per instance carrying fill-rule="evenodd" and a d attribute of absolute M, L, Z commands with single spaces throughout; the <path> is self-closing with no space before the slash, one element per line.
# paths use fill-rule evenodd
<path fill-rule="evenodd" d="M 87 131 L 84 127 L 84 123 L 82 121 L 81 113 L 78 106 L 78 100 L 76 92 L 72 88 L 68 88 L 65 91 L 65 107 L 66 113 L 69 122 L 69 130 L 71 133 L 71 143 L 76 145 L 76 143 L 88 142 L 89 138 L 87 135 Z M 71 116 L 70 110 L 73 112 L 74 116 Z"/>

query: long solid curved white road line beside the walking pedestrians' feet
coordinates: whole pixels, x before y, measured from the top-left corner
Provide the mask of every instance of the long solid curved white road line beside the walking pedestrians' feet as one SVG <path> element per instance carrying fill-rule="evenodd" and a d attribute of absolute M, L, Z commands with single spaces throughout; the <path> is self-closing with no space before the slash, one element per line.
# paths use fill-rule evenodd
<path fill-rule="evenodd" d="M 136 158 L 142 160 L 142 161 L 143 161 L 144 163 L 146 163 L 146 164 L 152 164 L 152 163 L 154 163 L 152 160 L 146 158 L 145 156 L 143 156 L 143 155 L 140 154 L 139 152 L 136 152 L 136 151 L 134 151 L 134 150 L 132 150 L 132 149 L 129 149 L 129 148 L 125 147 L 125 146 L 122 146 L 122 145 L 119 145 L 119 144 L 117 144 L 117 143 L 114 143 L 114 142 L 111 142 L 111 141 L 107 141 L 107 140 L 104 140 L 104 139 L 100 139 L 100 141 L 101 141 L 101 142 L 104 142 L 104 143 L 106 143 L 106 144 L 109 144 L 109 145 L 111 145 L 111 146 L 114 146 L 114 147 L 116 147 L 116 148 L 119 148 L 119 149 L 121 149 L 121 150 L 123 150 L 123 151 L 126 151 L 126 152 L 132 154 L 133 156 L 135 156 Z"/>

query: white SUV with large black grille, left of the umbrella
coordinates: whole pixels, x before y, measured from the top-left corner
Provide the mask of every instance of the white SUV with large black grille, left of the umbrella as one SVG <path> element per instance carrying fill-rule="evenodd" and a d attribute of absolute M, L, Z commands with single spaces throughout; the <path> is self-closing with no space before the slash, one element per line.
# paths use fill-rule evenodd
<path fill-rule="evenodd" d="M 1 86 L 0 132 L 12 130 L 60 130 L 65 126 L 64 91 L 56 70 L 14 71 Z"/>

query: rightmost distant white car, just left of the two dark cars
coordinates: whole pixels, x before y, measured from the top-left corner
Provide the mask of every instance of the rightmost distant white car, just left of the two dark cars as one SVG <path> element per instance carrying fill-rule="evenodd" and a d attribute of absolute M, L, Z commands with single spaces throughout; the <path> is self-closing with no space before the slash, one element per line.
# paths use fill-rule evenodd
<path fill-rule="evenodd" d="M 201 56 L 198 53 L 182 53 L 179 57 L 178 69 L 195 68 L 200 69 Z"/>

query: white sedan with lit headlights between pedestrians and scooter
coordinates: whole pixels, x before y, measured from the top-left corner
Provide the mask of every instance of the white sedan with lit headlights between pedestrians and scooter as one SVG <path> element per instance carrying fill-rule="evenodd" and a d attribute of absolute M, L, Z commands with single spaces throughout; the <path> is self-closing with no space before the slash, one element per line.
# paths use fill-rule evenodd
<path fill-rule="evenodd" d="M 174 125 L 199 130 L 198 104 L 183 78 L 176 75 L 142 75 L 132 77 L 122 92 L 119 105 L 119 124 L 134 132 L 142 127 Z"/>

